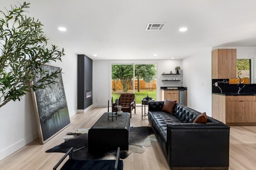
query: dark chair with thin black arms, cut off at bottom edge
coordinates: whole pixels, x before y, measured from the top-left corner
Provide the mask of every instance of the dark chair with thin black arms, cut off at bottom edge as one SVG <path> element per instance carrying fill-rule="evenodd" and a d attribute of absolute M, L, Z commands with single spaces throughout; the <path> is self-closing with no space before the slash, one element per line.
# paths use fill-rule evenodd
<path fill-rule="evenodd" d="M 120 160 L 120 147 L 117 149 L 116 160 L 76 160 L 73 159 L 72 147 L 54 166 L 53 170 L 56 170 L 68 155 L 69 159 L 60 170 L 123 170 L 124 168 L 123 160 Z"/>

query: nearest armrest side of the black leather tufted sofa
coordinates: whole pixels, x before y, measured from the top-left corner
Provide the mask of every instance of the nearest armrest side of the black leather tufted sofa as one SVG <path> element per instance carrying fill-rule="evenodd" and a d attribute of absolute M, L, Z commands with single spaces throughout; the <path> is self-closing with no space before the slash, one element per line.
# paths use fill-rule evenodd
<path fill-rule="evenodd" d="M 229 166 L 229 127 L 223 123 L 167 125 L 170 166 Z"/>

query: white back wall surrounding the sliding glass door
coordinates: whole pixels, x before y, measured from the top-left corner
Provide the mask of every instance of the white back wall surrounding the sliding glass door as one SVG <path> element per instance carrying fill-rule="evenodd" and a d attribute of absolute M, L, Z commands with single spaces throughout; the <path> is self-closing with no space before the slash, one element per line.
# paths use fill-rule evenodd
<path fill-rule="evenodd" d="M 162 73 L 175 72 L 176 66 L 181 66 L 181 60 L 94 60 L 92 62 L 93 106 L 106 107 L 111 101 L 111 64 L 157 64 L 157 99 L 160 100 L 160 76 Z M 98 101 L 97 101 L 98 100 Z"/>

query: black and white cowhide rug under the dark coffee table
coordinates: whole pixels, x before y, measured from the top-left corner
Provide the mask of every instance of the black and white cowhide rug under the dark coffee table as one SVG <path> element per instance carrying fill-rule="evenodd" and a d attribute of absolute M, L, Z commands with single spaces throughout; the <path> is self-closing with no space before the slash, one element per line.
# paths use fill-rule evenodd
<path fill-rule="evenodd" d="M 75 133 L 67 133 L 64 143 L 46 150 L 46 152 L 63 152 L 74 147 L 74 159 L 114 159 L 116 158 L 116 150 L 108 152 L 94 153 L 88 151 L 88 129 L 78 129 Z M 129 150 L 121 150 L 120 158 L 125 159 L 132 152 L 143 153 L 144 147 L 151 145 L 151 142 L 156 141 L 151 127 L 130 127 Z"/>

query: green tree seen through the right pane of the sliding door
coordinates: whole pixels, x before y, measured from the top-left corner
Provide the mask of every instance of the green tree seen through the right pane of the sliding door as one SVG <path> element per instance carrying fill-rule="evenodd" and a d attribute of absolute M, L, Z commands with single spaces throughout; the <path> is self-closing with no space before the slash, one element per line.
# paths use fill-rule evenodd
<path fill-rule="evenodd" d="M 140 79 L 150 83 L 151 80 L 156 78 L 156 65 L 155 64 L 136 64 L 135 77 L 138 80 L 138 92 L 140 92 Z"/>

